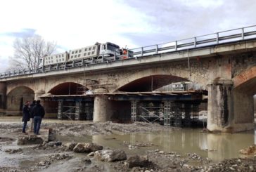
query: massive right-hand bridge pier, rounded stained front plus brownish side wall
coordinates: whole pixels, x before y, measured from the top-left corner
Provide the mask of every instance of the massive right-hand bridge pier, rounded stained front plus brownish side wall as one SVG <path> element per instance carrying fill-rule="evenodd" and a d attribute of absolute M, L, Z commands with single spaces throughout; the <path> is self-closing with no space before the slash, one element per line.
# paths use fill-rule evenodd
<path fill-rule="evenodd" d="M 238 132 L 254 128 L 251 94 L 233 89 L 231 80 L 218 79 L 208 86 L 209 131 Z"/>

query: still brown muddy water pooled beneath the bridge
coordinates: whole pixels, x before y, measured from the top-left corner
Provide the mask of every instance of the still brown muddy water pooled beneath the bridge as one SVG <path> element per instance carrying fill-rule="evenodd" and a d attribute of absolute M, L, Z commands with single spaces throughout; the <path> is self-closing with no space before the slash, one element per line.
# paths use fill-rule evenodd
<path fill-rule="evenodd" d="M 201 157 L 208 157 L 213 162 L 243 157 L 239 150 L 249 147 L 256 142 L 256 131 L 243 133 L 201 133 L 200 129 L 181 129 L 180 131 L 162 131 L 157 133 L 132 133 L 112 135 L 93 135 L 84 138 L 58 136 L 59 140 L 70 142 L 92 141 L 98 145 L 119 148 L 127 154 L 144 154 L 145 150 L 164 150 L 165 152 L 177 152 L 181 155 L 196 153 Z M 141 143 L 153 144 L 149 147 L 137 147 L 129 149 L 128 145 Z"/>

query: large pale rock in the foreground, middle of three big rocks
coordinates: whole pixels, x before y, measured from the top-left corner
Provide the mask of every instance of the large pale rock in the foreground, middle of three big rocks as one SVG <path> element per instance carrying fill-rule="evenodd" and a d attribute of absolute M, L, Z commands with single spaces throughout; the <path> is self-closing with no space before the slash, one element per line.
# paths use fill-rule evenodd
<path fill-rule="evenodd" d="M 100 161 L 121 161 L 127 159 L 127 155 L 123 150 L 98 150 L 94 153 L 94 157 Z"/>

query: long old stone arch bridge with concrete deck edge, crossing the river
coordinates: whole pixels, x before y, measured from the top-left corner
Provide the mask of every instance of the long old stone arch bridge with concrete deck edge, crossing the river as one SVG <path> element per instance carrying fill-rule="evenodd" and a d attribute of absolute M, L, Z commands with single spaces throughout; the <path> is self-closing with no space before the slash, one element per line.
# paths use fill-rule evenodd
<path fill-rule="evenodd" d="M 58 102 L 49 101 L 53 95 L 79 95 L 94 100 L 94 121 L 107 121 L 116 113 L 129 114 L 131 103 L 110 100 L 106 93 L 152 92 L 177 81 L 192 81 L 194 86 L 207 91 L 210 131 L 254 128 L 256 39 L 2 77 L 0 105 L 2 109 L 20 110 L 23 101 L 41 98 L 46 112 L 57 113 Z M 94 94 L 83 95 L 87 90 Z M 90 99 L 92 96 L 94 99 Z"/>

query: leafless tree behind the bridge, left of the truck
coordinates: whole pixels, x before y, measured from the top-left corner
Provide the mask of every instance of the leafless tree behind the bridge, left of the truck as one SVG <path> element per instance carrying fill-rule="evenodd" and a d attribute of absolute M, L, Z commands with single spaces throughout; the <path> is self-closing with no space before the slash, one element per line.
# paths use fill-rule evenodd
<path fill-rule="evenodd" d="M 35 71 L 39 66 L 39 59 L 44 55 L 51 55 L 56 51 L 56 43 L 44 41 L 41 36 L 15 39 L 13 43 L 14 55 L 10 58 L 11 67 L 8 70 Z"/>

